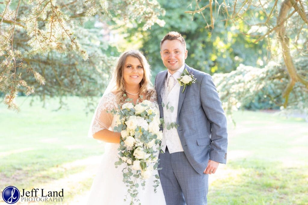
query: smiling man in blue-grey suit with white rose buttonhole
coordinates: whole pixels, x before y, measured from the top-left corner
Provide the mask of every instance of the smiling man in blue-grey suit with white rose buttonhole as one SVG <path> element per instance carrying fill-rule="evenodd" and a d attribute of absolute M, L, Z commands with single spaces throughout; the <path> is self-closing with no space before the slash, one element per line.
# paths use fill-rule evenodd
<path fill-rule="evenodd" d="M 167 205 L 207 204 L 208 174 L 227 159 L 227 120 L 216 87 L 209 74 L 185 64 L 187 52 L 178 32 L 169 32 L 160 42 L 160 56 L 168 68 L 155 79 L 160 115 L 165 125 L 179 124 L 163 130 L 164 153 L 159 156 Z M 186 70 L 196 82 L 184 89 L 177 79 Z M 162 106 L 167 104 L 174 110 Z"/>

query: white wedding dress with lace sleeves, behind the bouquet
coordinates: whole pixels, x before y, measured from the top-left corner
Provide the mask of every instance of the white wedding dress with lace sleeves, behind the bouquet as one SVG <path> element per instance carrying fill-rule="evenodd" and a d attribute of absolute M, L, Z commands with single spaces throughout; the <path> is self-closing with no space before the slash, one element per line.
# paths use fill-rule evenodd
<path fill-rule="evenodd" d="M 152 102 L 156 102 L 156 96 L 151 98 Z M 156 102 L 157 103 L 157 102 Z M 112 117 L 111 113 L 107 111 L 117 108 L 115 94 L 108 93 L 104 95 L 95 111 L 95 118 L 91 126 L 92 135 L 100 130 L 108 129 L 113 131 L 116 126 L 116 119 Z M 125 195 L 127 195 L 126 184 L 123 180 L 123 168 L 124 164 L 115 168 L 115 161 L 118 161 L 117 149 L 119 144 L 106 143 L 105 151 L 103 154 L 102 162 L 99 166 L 99 170 L 94 178 L 90 195 L 87 204 L 88 205 L 127 205 L 131 202 L 131 196 L 128 195 L 126 201 L 124 201 Z M 158 155 L 158 153 L 157 153 Z M 153 175 L 156 175 L 157 170 Z M 157 187 L 157 192 L 154 193 L 154 183 L 156 180 L 154 176 L 146 180 L 145 187 L 142 187 L 139 183 L 138 198 L 140 201 L 134 202 L 134 204 L 141 203 L 142 205 L 164 205 L 166 204 L 164 193 L 161 184 Z M 143 190 L 144 188 L 144 190 Z"/>

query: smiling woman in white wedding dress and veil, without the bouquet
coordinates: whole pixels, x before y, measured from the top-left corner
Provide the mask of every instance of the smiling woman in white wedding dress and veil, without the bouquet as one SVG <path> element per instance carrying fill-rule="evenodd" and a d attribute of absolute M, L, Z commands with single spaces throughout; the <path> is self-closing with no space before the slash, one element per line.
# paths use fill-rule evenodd
<path fill-rule="evenodd" d="M 113 131 L 117 123 L 116 118 L 113 118 L 109 111 L 117 109 L 118 105 L 123 103 L 123 94 L 126 94 L 127 98 L 132 99 L 135 104 L 142 102 L 143 99 L 157 103 L 156 92 L 152 87 L 150 77 L 150 66 L 140 51 L 130 50 L 120 56 L 113 78 L 99 101 L 89 130 L 89 136 L 106 142 L 103 159 L 91 187 L 87 202 L 89 205 L 124 205 L 131 202 L 130 195 L 127 195 L 128 187 L 122 181 L 122 170 L 126 165 L 124 163 L 115 168 L 121 135 Z M 138 187 L 140 201 L 136 204 L 166 204 L 161 186 L 158 186 L 157 192 L 154 193 L 152 185 L 156 180 L 154 177 L 156 174 L 158 174 L 157 170 L 153 172 L 151 178 L 146 180 L 145 187 Z M 128 197 L 124 201 L 126 195 Z"/>

